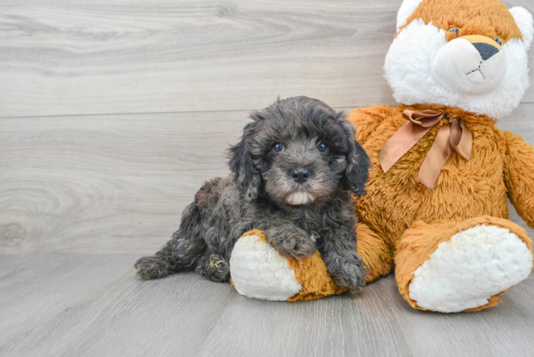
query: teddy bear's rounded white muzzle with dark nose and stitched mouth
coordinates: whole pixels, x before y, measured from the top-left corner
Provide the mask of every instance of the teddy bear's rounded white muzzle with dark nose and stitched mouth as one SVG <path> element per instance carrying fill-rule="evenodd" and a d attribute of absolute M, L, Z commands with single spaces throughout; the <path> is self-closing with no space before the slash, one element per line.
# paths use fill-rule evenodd
<path fill-rule="evenodd" d="M 441 84 L 463 95 L 490 94 L 506 74 L 503 48 L 486 36 L 453 39 L 433 59 L 432 74 Z"/>

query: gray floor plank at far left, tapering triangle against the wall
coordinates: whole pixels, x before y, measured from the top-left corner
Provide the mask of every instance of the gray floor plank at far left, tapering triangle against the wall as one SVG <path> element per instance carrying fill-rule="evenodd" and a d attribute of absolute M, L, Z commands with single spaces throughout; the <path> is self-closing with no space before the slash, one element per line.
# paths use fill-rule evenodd
<path fill-rule="evenodd" d="M 2 271 L 8 267 L 14 269 L 0 277 L 0 355 L 3 356 L 9 355 L 6 343 L 11 336 L 26 336 L 36 323 L 54 313 L 69 311 L 76 298 L 87 296 L 95 286 L 115 281 L 107 273 L 121 268 L 125 261 L 123 258 L 119 264 L 112 258 L 72 255 L 16 255 L 1 259 Z"/>

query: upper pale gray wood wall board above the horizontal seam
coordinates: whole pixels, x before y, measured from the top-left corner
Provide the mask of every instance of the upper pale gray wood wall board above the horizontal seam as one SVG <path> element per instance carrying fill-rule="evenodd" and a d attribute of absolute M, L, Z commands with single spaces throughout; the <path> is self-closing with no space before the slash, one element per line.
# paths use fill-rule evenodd
<path fill-rule="evenodd" d="M 4 0 L 0 117 L 257 109 L 278 94 L 393 104 L 382 66 L 400 4 Z"/>

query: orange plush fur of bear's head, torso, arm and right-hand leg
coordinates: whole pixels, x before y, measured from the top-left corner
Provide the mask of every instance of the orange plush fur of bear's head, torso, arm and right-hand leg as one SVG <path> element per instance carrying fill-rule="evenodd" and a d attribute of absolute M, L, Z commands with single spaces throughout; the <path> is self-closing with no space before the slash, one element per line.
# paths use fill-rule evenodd
<path fill-rule="evenodd" d="M 510 40 L 523 40 L 513 14 L 496 0 L 420 1 L 405 24 L 398 27 L 395 36 L 412 21 L 423 21 L 425 25 L 443 30 L 446 41 L 469 35 L 476 35 L 477 39 L 484 36 L 487 38 L 484 42 L 499 51 Z M 499 40 L 502 46 L 495 44 Z M 430 109 L 445 116 L 385 173 L 379 154 L 384 144 L 406 123 L 403 111 L 407 109 Z M 465 160 L 453 151 L 432 190 L 418 181 L 418 172 L 438 130 L 448 124 L 447 118 L 460 118 L 468 126 L 473 135 L 472 154 Z M 399 291 L 405 300 L 415 308 L 424 309 L 410 297 L 410 282 L 438 246 L 450 241 L 456 233 L 476 226 L 505 228 L 523 241 L 532 254 L 530 238 L 523 228 L 508 220 L 509 198 L 526 223 L 534 226 L 534 149 L 520 136 L 509 131 L 503 133 L 495 127 L 496 119 L 485 114 L 437 104 L 371 106 L 356 109 L 349 120 L 356 126 L 357 139 L 375 168 L 366 186 L 368 194 L 356 205 L 361 226 L 366 227 L 358 227 L 361 231 L 358 251 L 368 266 L 375 267 L 368 281 L 394 266 Z M 376 236 L 383 238 L 385 248 L 376 249 Z M 370 242 L 375 244 L 371 253 Z M 484 305 L 464 311 L 494 306 L 503 292 L 496 291 Z"/>

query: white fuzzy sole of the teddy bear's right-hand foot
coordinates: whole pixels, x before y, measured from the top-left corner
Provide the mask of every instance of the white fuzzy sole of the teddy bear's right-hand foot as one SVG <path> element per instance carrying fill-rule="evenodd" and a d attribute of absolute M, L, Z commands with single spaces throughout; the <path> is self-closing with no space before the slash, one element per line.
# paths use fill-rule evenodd
<path fill-rule="evenodd" d="M 432 311 L 478 308 L 527 278 L 533 256 L 515 233 L 499 226 L 460 231 L 415 270 L 410 298 Z"/>

